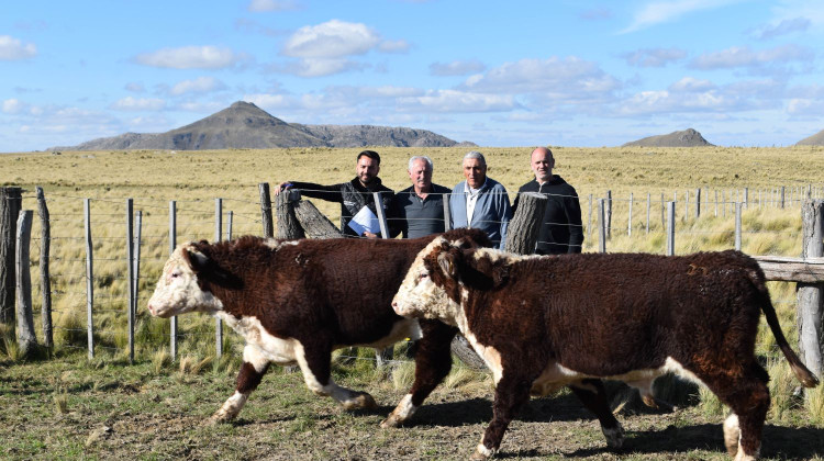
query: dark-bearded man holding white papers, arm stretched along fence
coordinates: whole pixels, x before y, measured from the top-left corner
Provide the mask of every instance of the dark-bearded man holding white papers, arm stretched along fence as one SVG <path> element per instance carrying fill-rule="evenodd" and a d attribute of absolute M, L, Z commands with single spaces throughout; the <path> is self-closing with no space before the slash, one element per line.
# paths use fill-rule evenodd
<path fill-rule="evenodd" d="M 380 156 L 375 150 L 364 150 L 358 154 L 355 179 L 333 185 L 321 185 L 313 182 L 286 181 L 281 182 L 275 189 L 275 195 L 281 190 L 289 188 L 300 189 L 301 195 L 311 199 L 321 199 L 341 204 L 341 232 L 350 237 L 376 238 L 380 234 L 369 229 L 363 229 L 353 223 L 352 218 L 357 215 L 364 207 L 367 207 L 371 214 L 377 216 L 375 209 L 375 198 L 372 192 L 383 192 L 381 200 L 383 210 L 389 210 L 393 192 L 391 189 L 383 187 L 378 178 L 380 172 Z M 368 214 L 368 213 L 367 213 Z M 358 228 L 358 232 L 355 228 Z M 372 229 L 376 231 L 376 229 Z"/>

